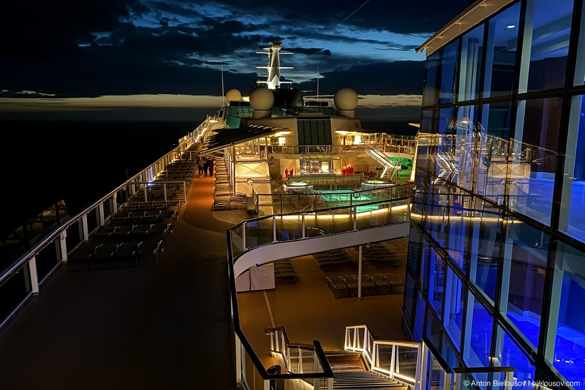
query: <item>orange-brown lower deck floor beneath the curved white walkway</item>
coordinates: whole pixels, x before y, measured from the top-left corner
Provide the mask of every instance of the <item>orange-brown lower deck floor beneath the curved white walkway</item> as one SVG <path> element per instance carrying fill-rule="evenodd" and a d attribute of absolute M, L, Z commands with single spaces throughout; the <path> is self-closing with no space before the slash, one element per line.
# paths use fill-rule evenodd
<path fill-rule="evenodd" d="M 408 238 L 386 241 L 384 246 L 403 260 L 400 267 L 371 264 L 363 268 L 363 273 L 393 272 L 404 280 Z M 325 285 L 325 277 L 357 275 L 355 264 L 324 271 L 312 256 L 293 258 L 291 262 L 299 275 L 297 282 L 277 281 L 271 290 L 238 293 L 242 330 L 265 368 L 275 364 L 270 338 L 264 332 L 270 327 L 284 326 L 291 343 L 319 340 L 325 351 L 343 350 L 346 325 L 367 323 L 382 340 L 405 340 L 399 307 L 404 294 L 335 299 Z"/>

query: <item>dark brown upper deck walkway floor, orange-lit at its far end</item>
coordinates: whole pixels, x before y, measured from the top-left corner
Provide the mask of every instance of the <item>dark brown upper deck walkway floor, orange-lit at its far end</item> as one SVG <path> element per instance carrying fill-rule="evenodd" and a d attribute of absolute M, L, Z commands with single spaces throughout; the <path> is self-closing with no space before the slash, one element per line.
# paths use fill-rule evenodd
<path fill-rule="evenodd" d="M 156 267 L 57 270 L 0 334 L 0 388 L 234 388 L 213 180 L 193 180 Z"/>

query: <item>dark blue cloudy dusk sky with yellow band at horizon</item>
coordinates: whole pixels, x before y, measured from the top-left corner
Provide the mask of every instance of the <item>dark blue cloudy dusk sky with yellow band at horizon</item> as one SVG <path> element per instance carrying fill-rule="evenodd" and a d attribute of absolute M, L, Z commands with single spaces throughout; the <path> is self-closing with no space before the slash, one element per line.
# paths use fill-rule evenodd
<path fill-rule="evenodd" d="M 0 119 L 187 119 L 249 93 L 267 64 L 256 51 L 281 40 L 282 75 L 305 96 L 320 75 L 321 96 L 354 88 L 371 119 L 418 120 L 415 48 L 472 1 L 273 3 L 2 2 Z"/>

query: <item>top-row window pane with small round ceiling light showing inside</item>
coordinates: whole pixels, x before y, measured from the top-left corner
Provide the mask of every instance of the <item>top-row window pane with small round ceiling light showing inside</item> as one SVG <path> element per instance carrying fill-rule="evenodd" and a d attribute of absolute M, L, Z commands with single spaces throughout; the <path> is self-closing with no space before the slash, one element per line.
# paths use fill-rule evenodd
<path fill-rule="evenodd" d="M 520 3 L 488 21 L 483 96 L 511 95 L 514 89 Z M 514 26 L 514 27 L 508 27 Z"/>

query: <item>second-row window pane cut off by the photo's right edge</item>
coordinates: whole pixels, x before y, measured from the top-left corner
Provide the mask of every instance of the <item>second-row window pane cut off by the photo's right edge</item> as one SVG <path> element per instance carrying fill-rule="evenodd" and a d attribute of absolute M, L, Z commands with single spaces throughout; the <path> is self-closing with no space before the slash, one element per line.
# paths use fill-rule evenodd
<path fill-rule="evenodd" d="M 574 96 L 560 202 L 559 230 L 585 242 L 585 99 Z"/>

